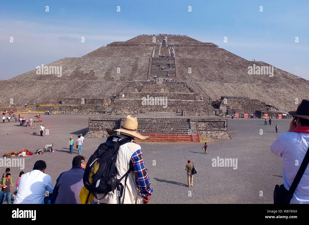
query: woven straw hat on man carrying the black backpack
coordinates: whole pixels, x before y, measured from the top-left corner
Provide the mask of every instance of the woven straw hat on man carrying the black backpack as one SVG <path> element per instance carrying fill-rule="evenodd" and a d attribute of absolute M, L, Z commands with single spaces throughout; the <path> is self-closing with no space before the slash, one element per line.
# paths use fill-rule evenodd
<path fill-rule="evenodd" d="M 147 138 L 150 138 L 150 136 L 143 136 L 137 132 L 137 117 L 132 117 L 131 115 L 128 115 L 125 118 L 125 121 L 123 122 L 123 125 L 120 127 L 120 129 L 112 130 L 112 129 L 106 129 L 107 133 L 109 135 L 113 135 L 116 132 L 120 132 L 120 134 L 124 134 L 133 138 L 138 138 L 145 140 Z"/>

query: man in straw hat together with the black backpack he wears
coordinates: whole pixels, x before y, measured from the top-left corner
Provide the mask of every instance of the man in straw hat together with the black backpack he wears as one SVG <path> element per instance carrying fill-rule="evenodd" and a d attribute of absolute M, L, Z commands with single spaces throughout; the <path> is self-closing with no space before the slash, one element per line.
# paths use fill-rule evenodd
<path fill-rule="evenodd" d="M 149 136 L 139 134 L 137 127 L 137 117 L 128 115 L 120 129 L 106 130 L 111 136 L 91 155 L 85 168 L 84 187 L 79 195 L 81 203 L 92 199 L 101 204 L 149 202 L 153 189 L 141 146 L 133 141 Z"/>

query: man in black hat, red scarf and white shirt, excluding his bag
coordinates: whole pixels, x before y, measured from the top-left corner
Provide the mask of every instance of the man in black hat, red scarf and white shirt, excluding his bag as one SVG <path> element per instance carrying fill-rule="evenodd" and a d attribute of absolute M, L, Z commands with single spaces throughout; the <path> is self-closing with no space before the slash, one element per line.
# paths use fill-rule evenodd
<path fill-rule="evenodd" d="M 283 185 L 289 190 L 309 147 L 309 100 L 303 99 L 296 111 L 290 129 L 282 133 L 270 146 L 271 151 L 283 159 Z M 295 161 L 297 160 L 297 161 Z M 309 167 L 296 187 L 290 204 L 309 204 Z"/>

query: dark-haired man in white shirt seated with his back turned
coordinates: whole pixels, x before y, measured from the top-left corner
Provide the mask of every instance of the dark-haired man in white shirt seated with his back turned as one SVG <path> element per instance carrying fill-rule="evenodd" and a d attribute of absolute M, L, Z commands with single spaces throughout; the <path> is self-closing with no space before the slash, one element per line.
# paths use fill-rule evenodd
<path fill-rule="evenodd" d="M 46 163 L 38 160 L 33 170 L 24 174 L 18 183 L 18 192 L 13 204 L 43 204 L 45 193 L 53 194 L 52 178 L 45 174 Z M 48 191 L 48 192 L 47 192 Z"/>

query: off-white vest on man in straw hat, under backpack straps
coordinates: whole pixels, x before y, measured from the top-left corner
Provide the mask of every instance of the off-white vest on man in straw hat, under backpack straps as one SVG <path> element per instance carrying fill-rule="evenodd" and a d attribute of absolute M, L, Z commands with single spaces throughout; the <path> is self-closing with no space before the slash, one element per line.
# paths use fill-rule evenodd
<path fill-rule="evenodd" d="M 126 135 L 117 135 L 120 136 L 120 139 L 128 138 Z M 106 142 L 105 139 L 102 143 Z M 113 139 L 117 141 L 116 138 Z M 120 179 L 125 173 L 129 170 L 129 163 L 133 153 L 137 150 L 141 149 L 141 146 L 130 142 L 124 145 L 121 145 L 118 151 L 118 156 L 116 160 L 116 168 L 117 168 L 117 179 Z M 125 178 L 121 180 L 123 186 L 125 186 Z M 121 197 L 121 203 L 124 204 L 142 204 L 143 197 L 140 195 L 140 191 L 137 189 L 135 183 L 135 174 L 133 171 L 129 173 L 126 188 L 125 188 L 125 199 L 123 200 L 123 195 Z M 98 194 L 97 198 L 100 199 L 104 196 L 104 194 Z M 117 189 L 109 192 L 105 198 L 103 199 L 95 199 L 95 202 L 99 203 L 107 203 L 107 204 L 119 204 L 119 196 L 117 196 Z"/>

